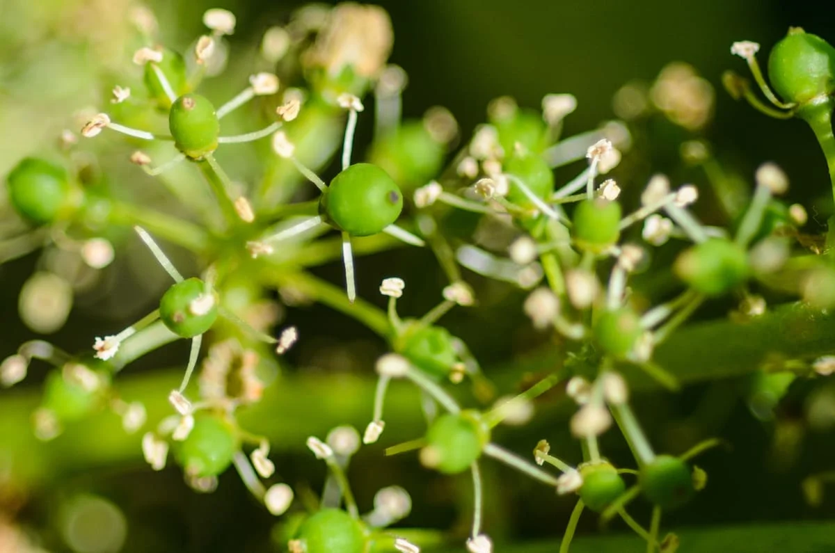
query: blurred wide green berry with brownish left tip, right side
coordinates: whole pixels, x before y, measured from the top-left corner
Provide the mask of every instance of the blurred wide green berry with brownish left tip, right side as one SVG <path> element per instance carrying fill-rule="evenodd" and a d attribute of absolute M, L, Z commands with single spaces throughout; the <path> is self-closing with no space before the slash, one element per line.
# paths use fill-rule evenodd
<path fill-rule="evenodd" d="M 682 281 L 707 296 L 721 294 L 745 282 L 745 250 L 724 238 L 711 238 L 681 253 L 673 271 Z"/>

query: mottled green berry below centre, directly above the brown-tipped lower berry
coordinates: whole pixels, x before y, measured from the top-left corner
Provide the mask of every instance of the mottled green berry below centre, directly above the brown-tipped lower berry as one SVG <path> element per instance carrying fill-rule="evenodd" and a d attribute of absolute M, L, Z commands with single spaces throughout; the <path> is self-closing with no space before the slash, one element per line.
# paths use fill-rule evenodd
<path fill-rule="evenodd" d="M 453 335 L 446 328 L 425 327 L 417 321 L 408 321 L 406 325 L 394 342 L 394 350 L 430 376 L 448 376 L 450 368 L 458 363 Z"/>

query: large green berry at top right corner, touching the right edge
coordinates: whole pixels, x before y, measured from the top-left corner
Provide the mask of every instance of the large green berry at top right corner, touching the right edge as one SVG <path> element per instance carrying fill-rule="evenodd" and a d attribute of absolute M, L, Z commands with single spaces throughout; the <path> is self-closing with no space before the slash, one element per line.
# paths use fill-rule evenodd
<path fill-rule="evenodd" d="M 802 28 L 789 28 L 768 57 L 768 78 L 787 102 L 806 104 L 835 92 L 835 48 Z"/>

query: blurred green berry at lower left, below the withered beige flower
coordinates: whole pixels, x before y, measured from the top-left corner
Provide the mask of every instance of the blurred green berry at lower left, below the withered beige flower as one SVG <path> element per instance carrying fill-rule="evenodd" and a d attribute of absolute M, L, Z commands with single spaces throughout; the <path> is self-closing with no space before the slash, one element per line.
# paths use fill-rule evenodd
<path fill-rule="evenodd" d="M 195 414 L 188 437 L 175 444 L 175 454 L 186 473 L 201 478 L 222 473 L 240 449 L 235 428 L 220 416 L 205 412 Z"/>

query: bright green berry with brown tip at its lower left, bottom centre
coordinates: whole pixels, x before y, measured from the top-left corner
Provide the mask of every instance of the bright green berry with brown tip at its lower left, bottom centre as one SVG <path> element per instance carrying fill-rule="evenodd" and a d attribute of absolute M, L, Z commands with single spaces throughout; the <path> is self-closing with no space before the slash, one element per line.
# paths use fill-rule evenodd
<path fill-rule="evenodd" d="M 490 429 L 483 424 L 479 413 L 443 414 L 427 431 L 421 460 L 444 474 L 458 474 L 469 469 L 489 441 Z"/>

